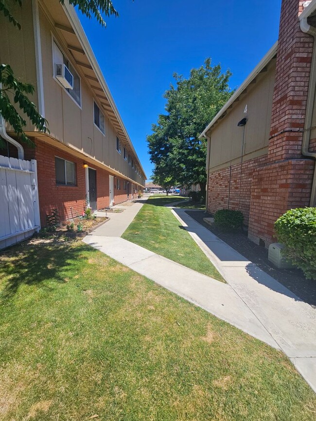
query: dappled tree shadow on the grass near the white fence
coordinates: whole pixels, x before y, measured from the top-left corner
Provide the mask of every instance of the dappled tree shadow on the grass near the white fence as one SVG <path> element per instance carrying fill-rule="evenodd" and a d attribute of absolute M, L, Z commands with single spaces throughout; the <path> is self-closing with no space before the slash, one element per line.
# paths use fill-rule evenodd
<path fill-rule="evenodd" d="M 72 246 L 77 243 L 77 247 Z M 7 278 L 0 300 L 13 297 L 21 285 L 39 285 L 44 281 L 65 283 L 73 276 L 73 263 L 83 252 L 96 252 L 76 239 L 32 239 L 0 253 L 0 279 Z M 50 289 L 45 285 L 45 288 Z"/>

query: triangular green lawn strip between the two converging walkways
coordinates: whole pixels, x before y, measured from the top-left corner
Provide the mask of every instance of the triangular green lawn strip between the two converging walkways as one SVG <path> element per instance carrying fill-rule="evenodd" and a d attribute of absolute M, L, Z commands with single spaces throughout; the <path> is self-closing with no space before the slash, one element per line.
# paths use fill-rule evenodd
<path fill-rule="evenodd" d="M 122 237 L 190 269 L 225 282 L 190 234 L 180 225 L 171 209 L 163 206 L 181 199 L 183 198 L 151 196 Z"/>

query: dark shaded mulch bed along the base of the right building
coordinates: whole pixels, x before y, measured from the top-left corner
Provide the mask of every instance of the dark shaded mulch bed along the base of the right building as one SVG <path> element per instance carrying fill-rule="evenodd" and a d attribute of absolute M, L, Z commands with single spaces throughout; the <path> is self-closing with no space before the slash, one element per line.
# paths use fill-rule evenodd
<path fill-rule="evenodd" d="M 212 215 L 200 210 L 188 210 L 187 214 L 211 231 L 215 236 L 225 241 L 238 253 L 259 266 L 280 284 L 294 292 L 305 303 L 316 307 L 316 282 L 305 279 L 303 272 L 299 269 L 277 269 L 268 261 L 268 251 L 248 240 L 245 232 L 232 233 L 223 232 L 215 226 L 203 221 L 203 218 L 210 218 Z"/>

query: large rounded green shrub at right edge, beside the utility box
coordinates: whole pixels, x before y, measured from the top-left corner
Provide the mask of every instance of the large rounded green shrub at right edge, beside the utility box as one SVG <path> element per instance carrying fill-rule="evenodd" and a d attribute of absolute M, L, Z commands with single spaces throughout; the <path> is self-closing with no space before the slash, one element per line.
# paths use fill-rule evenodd
<path fill-rule="evenodd" d="M 283 256 L 316 280 L 316 208 L 290 209 L 274 224 Z"/>

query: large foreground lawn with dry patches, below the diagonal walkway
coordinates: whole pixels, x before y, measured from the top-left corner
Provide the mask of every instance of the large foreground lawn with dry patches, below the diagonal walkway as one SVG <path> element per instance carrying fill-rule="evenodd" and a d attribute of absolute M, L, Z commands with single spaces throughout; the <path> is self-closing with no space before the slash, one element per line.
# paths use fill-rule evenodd
<path fill-rule="evenodd" d="M 315 420 L 281 352 L 80 241 L 2 253 L 0 290 L 3 421 Z"/>

